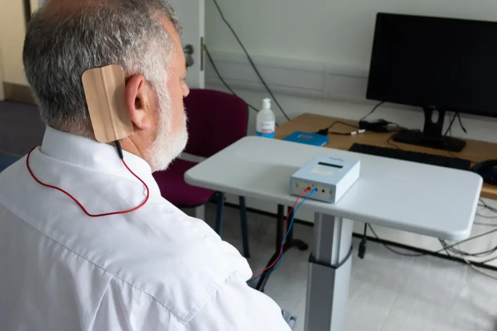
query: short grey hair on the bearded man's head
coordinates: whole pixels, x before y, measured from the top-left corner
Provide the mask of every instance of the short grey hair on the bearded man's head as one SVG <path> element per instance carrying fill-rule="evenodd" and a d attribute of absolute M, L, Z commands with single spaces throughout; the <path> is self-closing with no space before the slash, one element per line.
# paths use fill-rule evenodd
<path fill-rule="evenodd" d="M 77 10 L 59 12 L 48 7 L 42 5 L 32 16 L 22 53 L 46 125 L 92 132 L 81 80 L 87 69 L 118 65 L 126 77 L 143 74 L 152 86 L 165 86 L 175 50 L 161 19 L 171 21 L 181 34 L 181 23 L 166 0 L 87 1 Z"/>

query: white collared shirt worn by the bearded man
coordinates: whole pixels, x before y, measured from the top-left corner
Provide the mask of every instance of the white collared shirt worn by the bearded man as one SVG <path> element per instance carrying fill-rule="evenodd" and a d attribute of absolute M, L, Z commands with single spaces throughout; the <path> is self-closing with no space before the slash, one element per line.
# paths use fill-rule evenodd
<path fill-rule="evenodd" d="M 96 218 L 36 183 L 26 157 L 0 174 L 0 330 L 288 331 L 276 303 L 246 284 L 239 252 L 163 199 L 143 159 L 124 160 L 150 199 Z M 29 164 L 89 213 L 145 198 L 116 149 L 94 140 L 47 128 Z"/>

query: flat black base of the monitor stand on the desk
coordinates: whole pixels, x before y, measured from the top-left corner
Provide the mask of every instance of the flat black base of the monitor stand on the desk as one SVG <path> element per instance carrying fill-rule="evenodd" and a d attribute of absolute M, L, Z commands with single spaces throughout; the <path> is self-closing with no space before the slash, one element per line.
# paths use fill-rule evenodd
<path fill-rule="evenodd" d="M 397 132 L 392 136 L 392 140 L 410 145 L 448 150 L 450 152 L 460 152 L 466 146 L 466 141 L 461 139 L 448 136 L 431 137 L 420 131 L 406 130 Z"/>

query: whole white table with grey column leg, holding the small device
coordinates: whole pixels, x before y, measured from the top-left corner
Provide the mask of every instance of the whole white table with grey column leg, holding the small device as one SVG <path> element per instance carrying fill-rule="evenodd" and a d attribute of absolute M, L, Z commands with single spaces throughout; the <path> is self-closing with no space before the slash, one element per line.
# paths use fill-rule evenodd
<path fill-rule="evenodd" d="M 357 182 L 336 204 L 307 200 L 315 212 L 306 331 L 345 327 L 352 220 L 446 240 L 469 236 L 480 176 L 383 157 L 263 137 L 245 137 L 190 169 L 185 180 L 211 190 L 292 205 L 290 176 L 318 154 L 361 160 Z"/>

